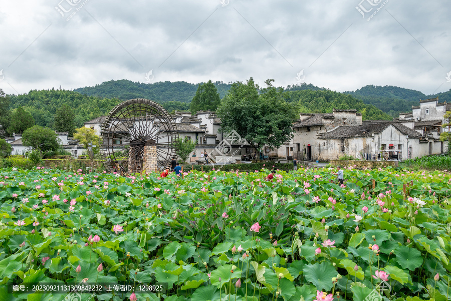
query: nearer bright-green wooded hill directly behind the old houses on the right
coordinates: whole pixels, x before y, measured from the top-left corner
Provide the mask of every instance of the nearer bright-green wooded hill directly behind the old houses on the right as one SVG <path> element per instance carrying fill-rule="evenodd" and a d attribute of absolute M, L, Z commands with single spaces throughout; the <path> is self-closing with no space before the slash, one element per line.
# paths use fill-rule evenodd
<path fill-rule="evenodd" d="M 298 90 L 284 92 L 288 102 L 298 104 L 299 112 L 331 113 L 333 109 L 356 109 L 363 120 L 390 120 L 391 117 L 373 105 L 364 104 L 350 95 L 331 90 Z"/>

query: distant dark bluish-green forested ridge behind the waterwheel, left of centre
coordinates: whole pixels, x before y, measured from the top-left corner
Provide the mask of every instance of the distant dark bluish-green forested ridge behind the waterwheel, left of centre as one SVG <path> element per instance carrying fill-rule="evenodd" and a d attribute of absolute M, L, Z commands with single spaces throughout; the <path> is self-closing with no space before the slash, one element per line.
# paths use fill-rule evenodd
<path fill-rule="evenodd" d="M 202 83 L 200 83 L 202 84 Z M 133 98 L 146 98 L 158 103 L 181 102 L 190 103 L 196 95 L 199 84 L 190 84 L 187 82 L 157 82 L 145 84 L 132 82 L 129 80 L 104 82 L 94 87 L 85 87 L 75 89 L 74 91 L 86 94 L 88 96 L 98 96 L 105 98 L 119 98 L 120 100 L 129 100 Z M 231 85 L 222 82 L 215 82 L 219 97 L 222 99 Z"/>

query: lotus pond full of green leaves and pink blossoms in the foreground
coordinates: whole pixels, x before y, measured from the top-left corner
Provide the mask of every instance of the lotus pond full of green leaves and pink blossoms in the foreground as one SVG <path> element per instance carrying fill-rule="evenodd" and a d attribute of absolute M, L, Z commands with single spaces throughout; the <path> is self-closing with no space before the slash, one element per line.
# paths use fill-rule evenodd
<path fill-rule="evenodd" d="M 328 169 L 268 173 L 2 169 L 0 298 L 451 299 L 449 173 L 346 169 L 343 187 Z M 83 282 L 167 289 L 8 292 Z"/>

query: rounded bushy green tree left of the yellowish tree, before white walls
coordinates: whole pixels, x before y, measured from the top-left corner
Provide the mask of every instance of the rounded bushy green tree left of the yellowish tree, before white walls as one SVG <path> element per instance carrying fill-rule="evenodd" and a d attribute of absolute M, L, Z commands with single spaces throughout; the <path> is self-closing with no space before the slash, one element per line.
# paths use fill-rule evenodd
<path fill-rule="evenodd" d="M 22 144 L 38 150 L 41 155 L 48 151 L 56 151 L 60 148 L 58 135 L 49 128 L 35 125 L 27 129 L 22 135 Z"/>

